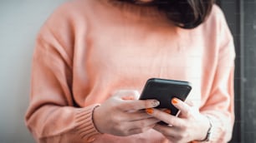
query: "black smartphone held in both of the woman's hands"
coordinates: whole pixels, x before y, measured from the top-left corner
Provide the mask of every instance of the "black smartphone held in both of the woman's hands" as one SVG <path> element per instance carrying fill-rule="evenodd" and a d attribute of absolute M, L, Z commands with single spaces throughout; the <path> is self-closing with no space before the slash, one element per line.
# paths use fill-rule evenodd
<path fill-rule="evenodd" d="M 156 99 L 160 105 L 156 108 L 171 110 L 173 116 L 177 116 L 178 109 L 172 105 L 172 98 L 176 97 L 185 101 L 192 90 L 189 81 L 175 81 L 161 78 L 151 78 L 146 81 L 140 100 Z"/>

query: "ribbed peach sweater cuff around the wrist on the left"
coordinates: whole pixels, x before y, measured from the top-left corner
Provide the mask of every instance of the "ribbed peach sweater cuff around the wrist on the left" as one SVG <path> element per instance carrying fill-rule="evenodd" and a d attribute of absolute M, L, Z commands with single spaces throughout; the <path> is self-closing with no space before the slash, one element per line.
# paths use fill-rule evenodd
<path fill-rule="evenodd" d="M 81 108 L 75 115 L 75 130 L 79 133 L 79 136 L 82 139 L 88 142 L 95 141 L 96 137 L 101 135 L 101 133 L 95 128 L 95 124 L 93 122 L 93 111 L 97 106 L 100 106 L 100 104 Z"/>

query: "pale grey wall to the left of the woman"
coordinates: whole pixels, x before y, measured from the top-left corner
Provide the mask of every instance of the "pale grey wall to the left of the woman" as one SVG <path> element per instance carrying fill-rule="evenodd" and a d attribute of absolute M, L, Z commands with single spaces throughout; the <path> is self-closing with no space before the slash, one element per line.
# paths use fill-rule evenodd
<path fill-rule="evenodd" d="M 34 142 L 24 125 L 34 39 L 64 0 L 0 0 L 0 142 Z"/>

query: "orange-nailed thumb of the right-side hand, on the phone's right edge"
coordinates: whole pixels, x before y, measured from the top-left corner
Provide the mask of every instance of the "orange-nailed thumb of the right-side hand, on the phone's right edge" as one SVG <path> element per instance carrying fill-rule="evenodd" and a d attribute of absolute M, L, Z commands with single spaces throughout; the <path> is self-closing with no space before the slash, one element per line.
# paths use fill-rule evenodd
<path fill-rule="evenodd" d="M 177 98 L 172 98 L 172 105 L 180 110 L 182 116 L 189 116 L 191 114 L 192 107 L 188 106 L 187 103 L 185 103 L 184 101 L 181 101 Z"/>

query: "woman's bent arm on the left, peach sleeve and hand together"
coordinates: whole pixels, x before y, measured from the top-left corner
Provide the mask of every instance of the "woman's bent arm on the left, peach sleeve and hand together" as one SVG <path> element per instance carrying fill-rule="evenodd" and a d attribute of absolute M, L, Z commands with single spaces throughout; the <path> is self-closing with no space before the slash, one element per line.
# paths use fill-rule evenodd
<path fill-rule="evenodd" d="M 158 106 L 159 101 L 136 100 L 138 94 L 131 90 L 117 91 L 101 106 L 74 107 L 69 54 L 57 43 L 39 38 L 34 52 L 26 123 L 37 142 L 91 142 L 100 132 L 130 136 L 145 132 L 158 122 L 141 110 Z"/>

